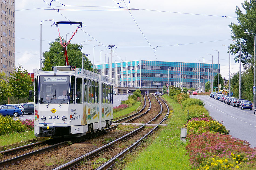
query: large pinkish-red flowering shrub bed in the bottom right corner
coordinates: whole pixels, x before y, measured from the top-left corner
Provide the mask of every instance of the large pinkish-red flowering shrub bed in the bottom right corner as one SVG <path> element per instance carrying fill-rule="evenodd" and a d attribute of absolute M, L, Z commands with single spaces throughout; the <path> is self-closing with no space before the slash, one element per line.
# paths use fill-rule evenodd
<path fill-rule="evenodd" d="M 240 169 L 243 169 L 242 166 L 247 166 L 248 162 L 253 166 L 256 165 L 255 148 L 250 148 L 249 142 L 233 138 L 231 135 L 206 131 L 201 134 L 190 133 L 187 140 L 189 140 L 189 144 L 186 146 L 187 154 L 189 154 L 190 163 L 195 169 L 205 167 L 207 162 L 209 163 L 208 159 L 216 156 L 218 159 L 232 161 L 237 159 L 230 163 L 234 167 L 239 166 Z M 243 159 L 238 157 L 243 157 Z"/>

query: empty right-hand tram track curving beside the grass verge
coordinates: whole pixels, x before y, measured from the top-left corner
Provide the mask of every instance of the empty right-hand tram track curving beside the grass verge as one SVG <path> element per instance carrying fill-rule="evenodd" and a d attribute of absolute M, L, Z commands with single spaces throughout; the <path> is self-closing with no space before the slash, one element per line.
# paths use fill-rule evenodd
<path fill-rule="evenodd" d="M 160 98 L 161 99 L 161 98 Z M 158 100 L 158 99 L 157 99 Z M 148 132 L 146 132 L 145 134 L 143 134 L 143 137 L 140 137 L 138 140 L 136 140 L 132 145 L 130 145 L 129 147 L 126 147 L 125 149 L 122 149 L 121 152 L 118 152 L 117 154 L 115 154 L 115 156 L 113 156 L 111 159 L 109 159 L 107 162 L 105 162 L 104 164 L 102 164 L 101 166 L 99 166 L 97 169 L 107 169 L 109 167 L 112 167 L 117 160 L 121 160 L 127 153 L 132 152 L 132 150 L 134 148 L 136 148 L 137 146 L 140 145 L 140 143 L 144 140 L 147 139 L 148 136 L 150 134 L 152 134 L 154 131 L 156 131 L 159 127 L 159 125 L 166 120 L 167 116 L 169 115 L 169 108 L 167 106 L 167 104 L 161 99 L 161 101 L 165 104 L 166 108 L 167 108 L 167 113 L 165 114 L 164 118 L 159 121 L 159 123 L 153 128 L 153 129 L 148 129 Z M 159 104 L 161 105 L 160 101 L 158 100 Z M 161 115 L 161 113 L 163 112 L 163 108 L 161 105 L 161 110 L 159 112 L 159 114 L 157 114 L 152 120 L 150 120 L 148 123 L 152 122 L 153 120 L 157 120 L 157 118 Z M 94 157 L 97 157 L 97 155 L 102 154 L 105 151 L 109 151 L 111 148 L 113 148 L 116 144 L 120 143 L 123 140 L 128 140 L 129 138 L 136 136 L 136 134 L 142 132 L 145 129 L 145 125 L 142 125 L 141 127 L 137 128 L 136 130 L 124 135 L 123 137 L 118 138 L 117 140 L 114 140 L 112 142 L 110 142 L 109 144 L 106 144 L 98 149 L 93 150 L 92 152 L 89 152 L 79 158 L 76 158 L 66 164 L 63 164 L 53 170 L 67 170 L 67 169 L 76 169 L 80 162 L 83 162 L 84 160 L 89 160 L 92 159 Z M 145 131 L 144 131 L 145 132 Z M 136 138 L 136 137 L 135 137 Z M 106 152 L 107 154 L 109 154 L 109 152 Z M 78 168 L 79 169 L 79 168 Z"/>

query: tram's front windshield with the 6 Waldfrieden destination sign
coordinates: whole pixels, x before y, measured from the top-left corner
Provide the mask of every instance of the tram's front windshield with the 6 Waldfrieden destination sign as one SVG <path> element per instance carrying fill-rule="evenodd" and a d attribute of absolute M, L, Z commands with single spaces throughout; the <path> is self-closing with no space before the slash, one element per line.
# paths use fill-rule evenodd
<path fill-rule="evenodd" d="M 69 101 L 69 76 L 40 76 L 41 104 L 67 104 Z"/>

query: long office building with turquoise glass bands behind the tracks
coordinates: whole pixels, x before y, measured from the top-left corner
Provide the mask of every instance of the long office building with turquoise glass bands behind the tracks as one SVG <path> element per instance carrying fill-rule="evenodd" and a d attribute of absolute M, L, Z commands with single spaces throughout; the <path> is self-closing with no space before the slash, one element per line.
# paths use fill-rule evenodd
<path fill-rule="evenodd" d="M 98 72 L 110 77 L 110 63 L 95 65 Z M 208 77 L 209 72 L 209 77 Z M 211 76 L 217 75 L 218 64 L 211 63 L 184 63 L 167 61 L 135 60 L 112 63 L 112 77 L 114 89 L 118 93 L 127 93 L 136 89 L 150 90 L 150 93 L 161 91 L 163 86 L 186 87 L 201 89 L 203 82 Z"/>

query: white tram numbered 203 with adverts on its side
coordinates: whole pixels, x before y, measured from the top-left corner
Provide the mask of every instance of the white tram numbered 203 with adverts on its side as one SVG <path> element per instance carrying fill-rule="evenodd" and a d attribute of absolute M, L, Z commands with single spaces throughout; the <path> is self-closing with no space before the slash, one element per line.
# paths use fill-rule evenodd
<path fill-rule="evenodd" d="M 35 136 L 79 137 L 112 124 L 109 78 L 66 66 L 52 70 L 34 70 Z"/>

